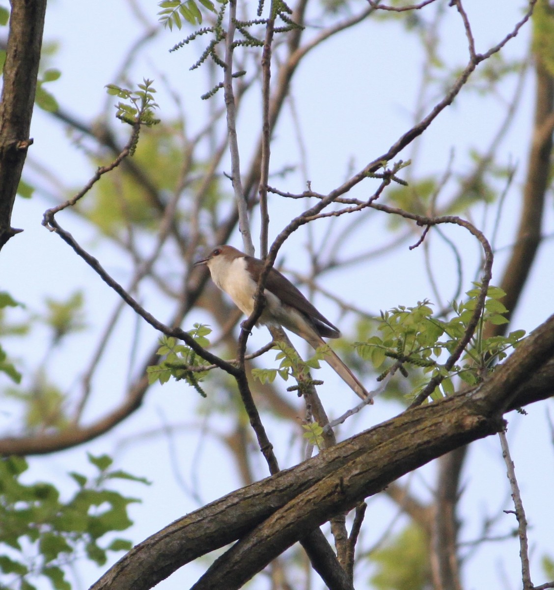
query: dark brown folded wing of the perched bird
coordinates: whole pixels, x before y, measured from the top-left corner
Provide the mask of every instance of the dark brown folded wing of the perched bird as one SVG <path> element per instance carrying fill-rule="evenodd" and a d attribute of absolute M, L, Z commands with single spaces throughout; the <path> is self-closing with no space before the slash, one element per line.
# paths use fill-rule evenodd
<path fill-rule="evenodd" d="M 246 259 L 249 270 L 257 281 L 263 268 L 263 262 L 258 260 L 258 258 L 252 258 L 250 256 L 247 256 Z M 279 293 L 279 299 L 283 303 L 295 307 L 299 312 L 304 313 L 311 320 L 319 336 L 324 338 L 338 338 L 341 335 L 341 331 L 337 326 L 334 326 L 329 322 L 327 317 L 319 313 L 306 297 L 304 297 L 301 291 L 296 289 L 291 281 L 279 273 L 278 270 L 275 270 L 275 268 L 269 271 L 265 288 L 273 294 Z"/>

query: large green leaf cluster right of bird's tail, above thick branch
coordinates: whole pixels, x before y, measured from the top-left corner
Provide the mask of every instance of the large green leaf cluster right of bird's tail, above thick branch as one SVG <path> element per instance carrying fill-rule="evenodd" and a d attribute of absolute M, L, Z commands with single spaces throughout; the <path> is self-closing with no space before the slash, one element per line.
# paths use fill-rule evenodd
<path fill-rule="evenodd" d="M 398 370 L 407 377 L 408 366 L 420 368 L 426 376 L 425 381 L 428 381 L 429 376 L 443 376 L 440 389 L 434 392 L 437 397 L 453 394 L 454 376 L 474 386 L 492 371 L 496 362 L 506 358 L 507 351 L 515 348 L 525 336 L 525 330 L 515 330 L 507 336 L 484 337 L 487 323 L 499 325 L 507 322 L 504 316 L 507 309 L 500 301 L 506 293 L 499 287 L 490 286 L 476 331 L 460 362 L 450 371 L 447 370 L 441 360 L 446 359 L 464 337 L 479 293 L 480 286 L 476 283 L 475 289 L 467 291 L 467 300 L 453 301 L 453 314 L 446 320 L 433 316 L 428 300 L 420 301 L 414 307 L 398 306 L 381 312 L 380 318 L 375 318 L 380 336 L 371 336 L 366 342 L 356 343 L 358 353 L 363 359 L 371 360 L 375 368 L 381 368 L 385 360 L 390 359 L 379 380 L 384 379 L 391 370 Z M 417 394 L 420 388 L 418 385 L 410 395 Z"/>

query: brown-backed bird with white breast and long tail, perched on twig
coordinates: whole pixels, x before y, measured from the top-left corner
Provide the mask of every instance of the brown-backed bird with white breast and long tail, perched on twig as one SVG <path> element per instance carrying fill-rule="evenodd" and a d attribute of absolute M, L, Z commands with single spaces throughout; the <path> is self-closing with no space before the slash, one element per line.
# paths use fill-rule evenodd
<path fill-rule="evenodd" d="M 195 267 L 202 265 L 209 268 L 217 287 L 225 291 L 249 317 L 254 309 L 258 279 L 265 263 L 233 246 L 222 245 L 216 246 L 205 258 L 194 263 Z M 266 302 L 256 325 L 282 326 L 306 340 L 314 349 L 325 345 L 324 338 L 341 336 L 337 326 L 318 312 L 301 291 L 275 268 L 269 270 L 263 294 Z M 361 399 L 368 398 L 364 386 L 328 346 L 324 359 L 355 394 Z"/>

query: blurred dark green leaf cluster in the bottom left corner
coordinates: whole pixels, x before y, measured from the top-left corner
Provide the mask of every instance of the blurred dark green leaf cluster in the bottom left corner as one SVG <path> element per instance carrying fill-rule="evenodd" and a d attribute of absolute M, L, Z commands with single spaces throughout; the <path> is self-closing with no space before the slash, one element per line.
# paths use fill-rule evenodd
<path fill-rule="evenodd" d="M 133 523 L 127 506 L 140 500 L 108 489 L 111 480 L 148 481 L 125 471 L 110 470 L 107 455 L 88 461 L 97 473 L 88 478 L 70 473 L 77 491 L 68 501 L 51 483 L 25 484 L 22 474 L 28 469 L 22 457 L 0 460 L 0 572 L 11 577 L 10 587 L 34 590 L 29 578 L 46 578 L 52 588 L 69 590 L 62 566 L 80 553 L 104 565 L 108 551 L 129 550 L 133 544 L 116 538 L 107 545 L 99 540 L 106 533 L 125 530 Z"/>

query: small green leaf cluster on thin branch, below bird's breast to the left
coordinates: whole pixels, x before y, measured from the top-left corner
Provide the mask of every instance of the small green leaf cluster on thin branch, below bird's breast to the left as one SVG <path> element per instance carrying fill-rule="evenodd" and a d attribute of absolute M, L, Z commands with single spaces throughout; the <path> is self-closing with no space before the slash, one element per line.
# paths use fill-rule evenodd
<path fill-rule="evenodd" d="M 210 341 L 206 336 L 211 332 L 212 329 L 210 327 L 199 323 L 195 323 L 194 328 L 188 330 L 188 333 L 203 348 L 209 346 Z M 157 365 L 150 365 L 146 369 L 150 384 L 159 381 L 163 385 L 163 383 L 167 383 L 172 377 L 177 381 L 184 379 L 202 397 L 206 397 L 206 393 L 200 386 L 200 382 L 207 375 L 207 371 L 193 370 L 195 367 L 202 366 L 203 359 L 199 358 L 192 348 L 184 344 L 177 344 L 177 340 L 173 337 L 161 336 L 160 348 L 157 350 L 157 354 L 165 356 L 165 359 L 161 360 Z"/>

